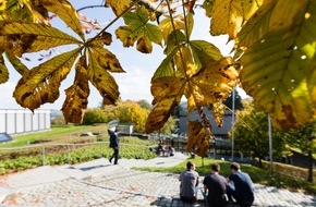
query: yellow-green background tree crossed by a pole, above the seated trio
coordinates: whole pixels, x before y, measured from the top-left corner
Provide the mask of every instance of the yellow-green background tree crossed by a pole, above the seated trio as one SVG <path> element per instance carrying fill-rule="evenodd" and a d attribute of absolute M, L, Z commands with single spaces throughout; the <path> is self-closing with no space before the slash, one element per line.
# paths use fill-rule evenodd
<path fill-rule="evenodd" d="M 262 160 L 269 155 L 267 113 L 256 110 L 252 101 L 244 101 L 244 110 L 236 112 L 233 130 L 235 148 L 257 157 L 262 167 Z M 272 132 L 272 154 L 281 157 L 284 151 L 281 132 Z"/>

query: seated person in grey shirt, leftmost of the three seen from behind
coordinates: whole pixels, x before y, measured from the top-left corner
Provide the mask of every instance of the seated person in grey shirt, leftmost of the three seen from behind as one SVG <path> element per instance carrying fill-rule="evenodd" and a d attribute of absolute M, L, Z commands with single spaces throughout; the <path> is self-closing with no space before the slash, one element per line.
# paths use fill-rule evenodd
<path fill-rule="evenodd" d="M 186 170 L 179 176 L 180 184 L 180 198 L 183 202 L 195 202 L 197 194 L 197 185 L 199 182 L 199 175 L 195 171 L 195 165 L 192 161 L 187 161 Z"/>

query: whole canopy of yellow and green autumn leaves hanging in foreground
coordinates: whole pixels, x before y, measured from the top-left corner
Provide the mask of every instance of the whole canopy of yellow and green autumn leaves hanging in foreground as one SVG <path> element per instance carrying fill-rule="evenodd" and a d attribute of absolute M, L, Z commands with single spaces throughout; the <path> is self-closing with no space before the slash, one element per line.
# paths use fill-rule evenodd
<path fill-rule="evenodd" d="M 66 0 L 8 0 L 0 8 L 0 83 L 9 80 L 5 57 L 22 76 L 13 96 L 33 111 L 59 98 L 60 84 L 73 69 L 75 80 L 65 89 L 62 111 L 66 122 L 81 123 L 89 83 L 99 90 L 104 105 L 114 105 L 119 99 L 111 73 L 124 70 L 108 49 L 112 42 L 108 31 L 122 19 L 125 25 L 116 28 L 113 35 L 124 47 L 135 45 L 144 53 L 153 51 L 153 44 L 165 49 L 166 58 L 151 78 L 154 108 L 146 123 L 148 133 L 165 125 L 182 97 L 187 99 L 189 112 L 209 106 L 223 110 L 222 101 L 239 83 L 253 96 L 255 106 L 270 114 L 275 127 L 299 127 L 316 113 L 315 4 L 311 0 L 106 0 L 96 7 L 110 8 L 117 17 L 100 28 L 78 15 Z M 83 13 L 94 8 L 78 10 Z M 203 29 L 194 27 L 195 12 L 211 19 L 211 35 L 227 34 L 234 40 L 230 57 L 223 57 L 211 42 L 191 38 L 193 29 Z M 50 13 L 76 36 L 51 26 Z M 96 28 L 99 33 L 89 37 L 87 34 Z M 25 53 L 70 45 L 71 50 L 31 70 L 21 61 Z M 218 118 L 221 122 L 222 117 Z M 211 137 L 207 121 L 200 123 L 200 131 L 190 133 L 189 143 L 198 134 L 202 139 Z"/>

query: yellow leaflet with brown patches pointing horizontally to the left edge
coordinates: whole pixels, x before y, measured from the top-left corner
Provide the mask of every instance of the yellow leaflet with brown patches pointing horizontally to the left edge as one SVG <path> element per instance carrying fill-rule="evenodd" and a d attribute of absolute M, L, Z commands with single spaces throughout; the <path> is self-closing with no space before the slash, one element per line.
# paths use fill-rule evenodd
<path fill-rule="evenodd" d="M 0 49 L 21 56 L 52 47 L 82 44 L 74 37 L 54 28 L 35 23 L 3 23 L 0 26 Z"/>

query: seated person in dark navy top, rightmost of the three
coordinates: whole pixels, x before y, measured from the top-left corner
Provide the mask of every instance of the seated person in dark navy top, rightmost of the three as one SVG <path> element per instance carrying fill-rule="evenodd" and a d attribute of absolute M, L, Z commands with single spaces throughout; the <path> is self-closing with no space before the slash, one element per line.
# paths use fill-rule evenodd
<path fill-rule="evenodd" d="M 235 199 L 241 206 L 252 206 L 254 203 L 254 187 L 251 176 L 241 171 L 241 167 L 236 162 L 230 166 L 232 173 L 229 175 L 227 182 L 227 194 L 229 200 Z"/>

